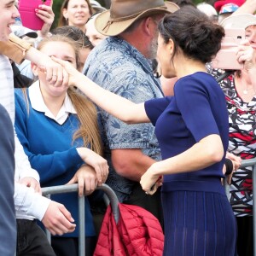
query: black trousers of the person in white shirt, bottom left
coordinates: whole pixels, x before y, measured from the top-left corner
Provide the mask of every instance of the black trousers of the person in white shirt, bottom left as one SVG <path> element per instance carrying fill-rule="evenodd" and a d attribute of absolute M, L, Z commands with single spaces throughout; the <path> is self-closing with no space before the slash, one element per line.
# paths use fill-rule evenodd
<path fill-rule="evenodd" d="M 17 219 L 16 256 L 55 256 L 36 220 Z"/>

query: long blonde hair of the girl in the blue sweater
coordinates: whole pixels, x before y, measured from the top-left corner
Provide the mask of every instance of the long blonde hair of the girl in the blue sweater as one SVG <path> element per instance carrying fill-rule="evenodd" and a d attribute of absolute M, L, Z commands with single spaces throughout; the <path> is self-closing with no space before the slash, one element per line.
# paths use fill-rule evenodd
<path fill-rule="evenodd" d="M 76 42 L 60 35 L 53 35 L 50 38 L 45 38 L 38 44 L 38 50 L 42 49 L 48 42 L 64 42 L 70 44 L 76 55 L 76 62 L 79 61 L 79 47 Z M 79 90 L 73 87 L 67 89 L 67 95 L 70 97 L 73 107 L 77 111 L 79 119 L 79 130 L 73 134 L 73 141 L 79 137 L 83 138 L 84 147 L 90 146 L 90 149 L 97 154 L 102 155 L 102 139 L 100 136 L 99 126 L 97 122 L 97 110 L 94 103 L 84 96 Z"/>

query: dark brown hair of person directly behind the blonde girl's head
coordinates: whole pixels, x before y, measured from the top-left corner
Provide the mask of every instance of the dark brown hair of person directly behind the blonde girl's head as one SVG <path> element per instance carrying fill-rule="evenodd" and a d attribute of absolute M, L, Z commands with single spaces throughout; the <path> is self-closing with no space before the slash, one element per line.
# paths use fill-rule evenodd
<path fill-rule="evenodd" d="M 55 35 L 61 35 L 67 38 L 72 38 L 74 41 L 77 42 L 79 48 L 94 48 L 93 44 L 90 43 L 89 38 L 77 26 L 60 26 L 56 27 L 51 32 Z"/>

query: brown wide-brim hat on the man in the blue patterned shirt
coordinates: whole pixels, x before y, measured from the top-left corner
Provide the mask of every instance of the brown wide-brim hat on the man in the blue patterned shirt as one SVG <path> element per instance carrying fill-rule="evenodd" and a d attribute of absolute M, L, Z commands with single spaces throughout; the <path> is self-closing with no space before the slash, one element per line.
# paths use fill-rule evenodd
<path fill-rule="evenodd" d="M 96 17 L 96 30 L 105 36 L 117 36 L 136 20 L 160 14 L 172 14 L 179 7 L 163 0 L 112 0 L 110 9 Z"/>

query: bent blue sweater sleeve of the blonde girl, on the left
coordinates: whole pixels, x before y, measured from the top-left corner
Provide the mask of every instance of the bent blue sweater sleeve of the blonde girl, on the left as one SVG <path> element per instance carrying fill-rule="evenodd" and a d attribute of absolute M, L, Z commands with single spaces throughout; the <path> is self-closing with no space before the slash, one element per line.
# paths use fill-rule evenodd
<path fill-rule="evenodd" d="M 29 108 L 29 111 L 27 108 Z M 53 150 L 51 154 L 36 154 L 31 151 L 32 141 L 30 137 L 32 131 L 28 130 L 28 126 L 31 127 L 29 119 L 32 111 L 29 102 L 26 104 L 22 93 L 15 91 L 15 130 L 32 168 L 36 169 L 40 175 L 41 183 L 61 176 L 71 168 L 77 170 L 84 161 L 80 158 L 76 147 L 70 147 L 63 151 Z M 40 127 L 34 125 L 34 129 L 40 130 Z M 40 140 L 45 141 L 46 139 L 38 138 L 38 152 L 40 152 Z M 49 141 L 47 143 L 49 143 L 49 147 L 52 147 L 53 142 Z"/>

